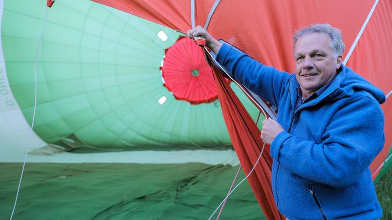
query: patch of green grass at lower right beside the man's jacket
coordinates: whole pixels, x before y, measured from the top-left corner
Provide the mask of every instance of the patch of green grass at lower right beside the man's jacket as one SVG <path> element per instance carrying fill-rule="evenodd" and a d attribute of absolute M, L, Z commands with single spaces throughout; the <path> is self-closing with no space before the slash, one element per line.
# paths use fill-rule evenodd
<path fill-rule="evenodd" d="M 384 212 L 381 219 L 390 220 L 392 219 L 392 169 L 389 169 L 374 185 Z"/>

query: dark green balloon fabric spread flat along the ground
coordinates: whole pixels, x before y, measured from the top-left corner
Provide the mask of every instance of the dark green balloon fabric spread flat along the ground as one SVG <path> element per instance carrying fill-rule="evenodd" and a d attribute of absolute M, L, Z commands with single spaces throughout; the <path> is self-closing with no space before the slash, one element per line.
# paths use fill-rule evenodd
<path fill-rule="evenodd" d="M 208 219 L 237 169 L 202 163 L 27 163 L 13 219 Z M 0 163 L 0 219 L 11 216 L 21 170 L 21 163 Z M 237 183 L 243 178 L 241 172 Z M 244 181 L 221 219 L 260 218 L 264 214 Z"/>

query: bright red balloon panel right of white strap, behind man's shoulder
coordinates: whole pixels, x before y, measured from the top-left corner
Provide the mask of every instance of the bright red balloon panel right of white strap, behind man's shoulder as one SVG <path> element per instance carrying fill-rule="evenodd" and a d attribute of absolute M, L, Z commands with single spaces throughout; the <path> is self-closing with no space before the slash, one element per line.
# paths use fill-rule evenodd
<path fill-rule="evenodd" d="M 378 2 L 352 56 L 347 62 L 347 66 L 382 89 L 385 94 L 392 90 L 392 61 L 390 58 L 390 52 L 392 51 L 391 12 L 391 1 Z M 392 144 L 391 99 L 392 96 L 389 96 L 386 102 L 381 105 L 385 114 L 385 145 L 370 166 L 372 174 L 377 171 L 380 164 L 384 161 Z M 373 179 L 375 178 L 376 174 L 373 175 Z"/>

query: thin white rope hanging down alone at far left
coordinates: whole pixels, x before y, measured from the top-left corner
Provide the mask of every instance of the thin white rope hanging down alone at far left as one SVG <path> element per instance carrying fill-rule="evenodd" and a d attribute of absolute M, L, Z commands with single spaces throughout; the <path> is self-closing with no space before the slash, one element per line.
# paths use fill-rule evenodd
<path fill-rule="evenodd" d="M 40 35 L 39 40 L 38 40 L 37 48 L 36 48 L 36 50 L 35 50 L 35 57 L 34 57 L 34 83 L 35 83 L 35 91 L 34 91 L 33 120 L 32 120 L 32 122 L 31 122 L 31 128 L 30 128 L 30 132 L 29 132 L 29 137 L 28 137 L 28 139 L 27 139 L 25 159 L 24 159 L 24 161 L 23 161 L 22 173 L 21 173 L 21 177 L 20 177 L 20 179 L 19 179 L 18 190 L 17 190 L 17 192 L 16 192 L 16 198 L 15 198 L 14 208 L 12 209 L 12 213 L 11 213 L 10 220 L 12 219 L 12 216 L 14 215 L 16 203 L 17 203 L 17 201 L 18 201 L 19 190 L 20 190 L 20 187 L 21 187 L 22 178 L 23 178 L 23 172 L 24 172 L 24 170 L 25 170 L 25 165 L 26 165 L 26 160 L 27 160 L 27 153 L 28 153 L 28 151 L 29 151 L 29 146 L 30 146 L 30 144 L 31 144 L 31 135 L 32 135 L 32 133 L 33 133 L 33 127 L 34 127 L 34 121 L 35 121 L 35 112 L 36 112 L 36 109 L 37 109 L 37 54 L 38 54 L 39 45 L 40 45 L 40 43 L 41 43 L 41 41 L 42 41 L 43 31 L 44 31 L 44 29 L 45 29 L 45 24 L 46 24 L 46 17 L 47 17 L 48 8 L 49 8 L 49 7 L 46 7 L 46 10 L 45 10 L 45 18 L 44 18 L 43 25 L 42 25 L 42 31 L 41 31 L 41 35 Z"/>

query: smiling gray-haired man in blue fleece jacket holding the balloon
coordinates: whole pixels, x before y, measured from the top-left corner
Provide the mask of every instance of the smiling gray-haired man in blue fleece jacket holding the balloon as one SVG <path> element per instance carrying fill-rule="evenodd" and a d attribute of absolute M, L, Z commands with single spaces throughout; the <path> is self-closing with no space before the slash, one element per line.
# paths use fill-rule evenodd
<path fill-rule="evenodd" d="M 369 164 L 384 144 L 384 93 L 342 64 L 339 29 L 316 24 L 293 36 L 295 74 L 265 66 L 197 27 L 234 77 L 278 106 L 263 121 L 271 145 L 272 186 L 289 219 L 377 219 Z"/>

